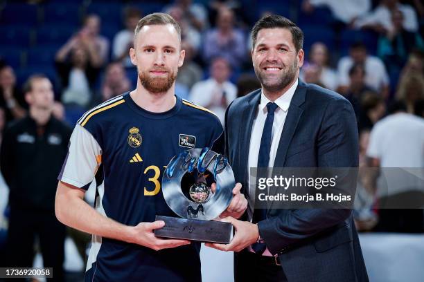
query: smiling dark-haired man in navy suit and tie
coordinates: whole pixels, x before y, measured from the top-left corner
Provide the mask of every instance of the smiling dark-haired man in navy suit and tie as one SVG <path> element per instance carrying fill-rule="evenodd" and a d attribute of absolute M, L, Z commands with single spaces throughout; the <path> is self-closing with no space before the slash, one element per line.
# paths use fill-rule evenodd
<path fill-rule="evenodd" d="M 355 113 L 341 95 L 299 80 L 303 32 L 270 15 L 252 30 L 262 88 L 227 109 L 227 154 L 249 197 L 236 229 L 236 281 L 368 281 L 351 209 L 254 209 L 250 167 L 357 167 Z M 253 183 L 255 184 L 255 183 Z M 252 185 L 255 186 L 255 185 Z M 255 224 L 256 223 L 256 224 Z"/>

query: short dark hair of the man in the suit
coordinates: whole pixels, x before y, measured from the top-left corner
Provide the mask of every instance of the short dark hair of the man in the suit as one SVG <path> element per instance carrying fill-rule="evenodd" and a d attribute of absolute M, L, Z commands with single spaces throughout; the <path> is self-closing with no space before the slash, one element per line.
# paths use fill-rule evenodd
<path fill-rule="evenodd" d="M 292 33 L 294 47 L 299 52 L 303 48 L 303 31 L 290 19 L 280 15 L 267 15 L 259 19 L 251 30 L 251 39 L 255 47 L 258 32 L 264 28 L 287 28 Z"/>

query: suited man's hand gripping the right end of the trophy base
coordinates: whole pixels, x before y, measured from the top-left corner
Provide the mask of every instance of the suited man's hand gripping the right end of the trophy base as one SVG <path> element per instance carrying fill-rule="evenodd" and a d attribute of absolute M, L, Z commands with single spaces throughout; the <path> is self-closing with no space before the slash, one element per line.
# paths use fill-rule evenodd
<path fill-rule="evenodd" d="M 245 247 L 248 247 L 249 245 L 258 241 L 258 225 L 249 223 L 247 221 L 237 220 L 231 216 L 222 218 L 220 221 L 231 223 L 233 225 L 234 229 L 236 230 L 233 240 L 231 240 L 229 244 L 205 243 L 204 245 L 207 247 L 213 247 L 216 250 L 225 252 L 240 252 L 241 250 L 245 249 Z"/>

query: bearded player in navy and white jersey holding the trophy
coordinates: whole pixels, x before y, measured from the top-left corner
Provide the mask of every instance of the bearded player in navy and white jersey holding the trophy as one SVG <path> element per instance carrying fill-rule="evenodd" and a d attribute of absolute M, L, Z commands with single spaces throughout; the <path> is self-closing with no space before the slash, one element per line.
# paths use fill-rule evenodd
<path fill-rule="evenodd" d="M 154 218 L 176 216 L 161 191 L 170 159 L 191 148 L 221 151 L 222 126 L 207 109 L 175 96 L 184 50 L 172 17 L 141 19 L 130 58 L 139 74 L 136 89 L 76 124 L 59 176 L 56 216 L 93 234 L 86 281 L 201 281 L 200 243 L 155 237 L 165 223 Z M 95 209 L 82 200 L 91 183 Z M 226 214 L 245 212 L 240 188 L 234 187 Z"/>

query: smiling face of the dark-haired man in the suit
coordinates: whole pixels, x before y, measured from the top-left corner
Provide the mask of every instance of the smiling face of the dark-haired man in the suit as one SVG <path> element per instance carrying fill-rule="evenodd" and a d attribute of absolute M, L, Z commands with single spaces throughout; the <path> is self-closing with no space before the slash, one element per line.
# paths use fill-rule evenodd
<path fill-rule="evenodd" d="M 251 57 L 262 87 L 278 93 L 299 77 L 304 53 L 302 49 L 297 52 L 287 28 L 264 28 L 258 32 Z"/>

